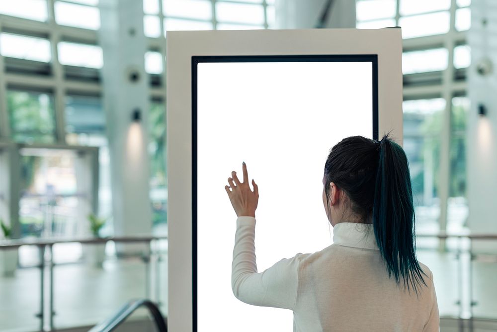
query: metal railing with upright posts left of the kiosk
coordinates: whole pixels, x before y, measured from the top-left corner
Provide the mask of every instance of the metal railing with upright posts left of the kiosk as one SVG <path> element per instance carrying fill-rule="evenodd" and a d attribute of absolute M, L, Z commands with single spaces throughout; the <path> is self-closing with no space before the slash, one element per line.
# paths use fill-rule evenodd
<path fill-rule="evenodd" d="M 53 246 L 60 243 L 81 243 L 81 244 L 105 244 L 109 241 L 115 243 L 148 243 L 147 252 L 143 253 L 140 257 L 145 263 L 145 289 L 147 297 L 150 297 L 150 282 L 151 282 L 151 257 L 155 256 L 157 263 L 162 261 L 163 253 L 154 246 L 154 242 L 165 240 L 167 236 L 122 236 L 122 237 L 105 237 L 105 238 L 43 238 L 43 239 L 14 239 L 0 241 L 0 250 L 18 249 L 20 246 L 32 245 L 38 247 L 39 264 L 35 267 L 40 271 L 40 311 L 35 316 L 40 319 L 40 331 L 54 331 L 54 266 L 56 265 L 53 260 Z M 156 250 L 153 248 L 156 247 Z M 48 258 L 47 258 L 48 256 Z M 48 269 L 47 269 L 48 267 Z M 156 299 L 160 304 L 160 268 L 157 266 L 155 269 L 155 291 Z M 48 274 L 48 275 L 47 275 Z M 48 291 L 45 286 L 46 278 L 49 279 Z M 48 294 L 47 294 L 48 293 Z M 48 295 L 48 300 L 46 296 Z M 48 313 L 46 310 L 46 303 L 48 302 Z M 142 304 L 146 305 L 147 304 Z M 48 316 L 48 317 L 47 317 Z M 46 329 L 48 321 L 48 329 Z"/>

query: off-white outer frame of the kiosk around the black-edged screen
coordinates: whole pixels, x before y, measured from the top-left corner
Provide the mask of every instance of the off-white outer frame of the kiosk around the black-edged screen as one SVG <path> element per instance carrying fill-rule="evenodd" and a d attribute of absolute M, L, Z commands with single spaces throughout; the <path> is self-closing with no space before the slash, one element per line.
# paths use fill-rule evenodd
<path fill-rule="evenodd" d="M 402 143 L 400 28 L 167 32 L 168 328 L 193 331 L 192 56 L 378 56 L 378 129 Z"/>

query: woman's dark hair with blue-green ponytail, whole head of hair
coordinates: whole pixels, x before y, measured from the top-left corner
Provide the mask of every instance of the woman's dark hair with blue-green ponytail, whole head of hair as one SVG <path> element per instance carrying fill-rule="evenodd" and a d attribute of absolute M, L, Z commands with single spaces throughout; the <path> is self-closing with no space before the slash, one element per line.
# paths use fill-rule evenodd
<path fill-rule="evenodd" d="M 333 182 L 348 196 L 352 213 L 372 223 L 376 243 L 397 284 L 426 285 L 415 254 L 414 204 L 409 164 L 402 147 L 385 135 L 381 141 L 344 138 L 331 148 L 325 164 L 325 193 Z M 327 205 L 328 209 L 330 204 Z"/>

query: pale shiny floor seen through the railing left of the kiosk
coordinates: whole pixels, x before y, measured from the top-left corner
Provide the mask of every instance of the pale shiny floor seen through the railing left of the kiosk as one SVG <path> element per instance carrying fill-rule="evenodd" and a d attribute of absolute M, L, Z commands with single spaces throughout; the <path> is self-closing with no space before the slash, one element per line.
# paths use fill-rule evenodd
<path fill-rule="evenodd" d="M 160 264 L 161 310 L 167 306 L 167 261 Z M 96 324 L 127 301 L 146 298 L 145 264 L 139 259 L 107 260 L 104 267 L 64 264 L 54 268 L 54 326 Z M 155 284 L 153 282 L 152 284 Z M 157 293 L 152 286 L 152 299 Z M 24 268 L 15 278 L 0 278 L 0 331 L 39 331 L 40 271 Z M 134 316 L 146 315 L 145 312 Z"/>

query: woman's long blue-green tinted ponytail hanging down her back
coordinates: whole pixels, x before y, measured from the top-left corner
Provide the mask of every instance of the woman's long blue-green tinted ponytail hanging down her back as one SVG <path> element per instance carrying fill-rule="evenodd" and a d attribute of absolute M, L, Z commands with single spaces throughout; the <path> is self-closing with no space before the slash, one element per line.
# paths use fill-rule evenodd
<path fill-rule="evenodd" d="M 416 259 L 414 238 L 414 204 L 409 164 L 399 144 L 384 136 L 379 144 L 378 171 L 374 186 L 373 230 L 388 275 L 417 294 L 421 274 Z"/>

